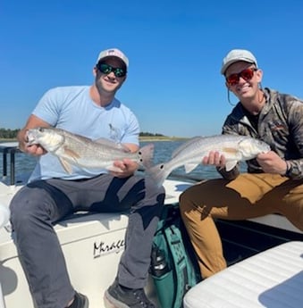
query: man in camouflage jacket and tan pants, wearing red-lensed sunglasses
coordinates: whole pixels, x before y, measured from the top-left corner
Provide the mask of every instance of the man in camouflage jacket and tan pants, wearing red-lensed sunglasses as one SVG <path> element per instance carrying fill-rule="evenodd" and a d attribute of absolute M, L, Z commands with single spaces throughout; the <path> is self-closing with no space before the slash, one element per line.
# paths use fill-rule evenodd
<path fill-rule="evenodd" d="M 211 152 L 201 160 L 215 165 L 223 179 L 204 181 L 181 195 L 181 216 L 203 278 L 226 267 L 216 218 L 280 213 L 303 230 L 303 101 L 260 87 L 263 71 L 248 50 L 231 50 L 221 73 L 228 94 L 240 100 L 224 121 L 223 134 L 259 138 L 271 151 L 248 161 L 248 172 L 242 173 L 239 165 L 226 171 L 225 157 Z"/>

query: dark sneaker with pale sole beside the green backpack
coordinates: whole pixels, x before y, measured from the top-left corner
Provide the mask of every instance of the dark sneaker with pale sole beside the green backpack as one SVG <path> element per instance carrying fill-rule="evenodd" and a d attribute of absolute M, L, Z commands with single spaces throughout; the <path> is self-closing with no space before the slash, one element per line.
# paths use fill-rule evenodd
<path fill-rule="evenodd" d="M 148 300 L 143 288 L 122 287 L 117 279 L 105 291 L 104 300 L 106 308 L 156 308 Z"/>

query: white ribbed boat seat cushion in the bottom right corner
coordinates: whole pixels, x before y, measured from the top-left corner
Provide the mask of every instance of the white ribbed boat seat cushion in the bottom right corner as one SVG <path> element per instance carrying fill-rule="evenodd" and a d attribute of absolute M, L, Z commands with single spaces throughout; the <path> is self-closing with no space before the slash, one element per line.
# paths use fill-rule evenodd
<path fill-rule="evenodd" d="M 303 242 L 291 241 L 231 265 L 192 287 L 184 308 L 302 308 Z"/>

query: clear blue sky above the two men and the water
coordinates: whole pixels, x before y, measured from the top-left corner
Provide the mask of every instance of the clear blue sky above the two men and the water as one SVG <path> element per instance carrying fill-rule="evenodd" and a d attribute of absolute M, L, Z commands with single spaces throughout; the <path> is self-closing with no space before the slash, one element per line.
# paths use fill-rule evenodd
<path fill-rule="evenodd" d="M 223 57 L 250 50 L 263 87 L 303 98 L 302 31 L 301 0 L 0 0 L 0 128 L 21 129 L 51 87 L 91 85 L 116 47 L 130 59 L 116 97 L 142 132 L 218 134 L 233 108 Z"/>

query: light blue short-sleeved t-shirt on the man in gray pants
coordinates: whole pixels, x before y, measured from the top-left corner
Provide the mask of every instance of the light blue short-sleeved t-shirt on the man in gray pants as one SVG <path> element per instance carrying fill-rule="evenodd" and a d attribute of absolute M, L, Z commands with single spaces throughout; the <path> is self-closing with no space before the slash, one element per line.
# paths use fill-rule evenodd
<path fill-rule="evenodd" d="M 95 104 L 88 86 L 55 87 L 46 92 L 32 112 L 51 126 L 97 140 L 105 137 L 117 143 L 139 145 L 139 122 L 116 98 L 105 107 Z M 82 179 L 105 173 L 72 166 L 72 174 L 63 170 L 53 154 L 42 155 L 29 181 L 34 179 Z"/>

